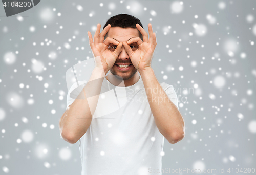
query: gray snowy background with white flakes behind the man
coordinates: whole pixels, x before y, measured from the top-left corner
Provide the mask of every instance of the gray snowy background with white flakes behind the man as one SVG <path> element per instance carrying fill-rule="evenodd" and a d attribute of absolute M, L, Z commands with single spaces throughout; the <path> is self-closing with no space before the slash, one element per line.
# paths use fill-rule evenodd
<path fill-rule="evenodd" d="M 119 13 L 138 17 L 146 31 L 152 23 L 158 43 L 152 67 L 159 82 L 172 84 L 179 97 L 186 136 L 176 144 L 165 140 L 162 168 L 217 170 L 207 174 L 221 174 L 220 168 L 225 172 L 228 168 L 256 168 L 256 49 L 252 43 L 256 42 L 256 1 L 189 0 L 183 1 L 179 13 L 172 11 L 173 2 L 45 0 L 11 17 L 5 17 L 1 6 L 0 174 L 81 173 L 78 142 L 62 140 L 58 128 L 66 109 L 65 73 L 78 61 L 92 57 L 87 31 L 94 34 L 97 23 L 103 27 L 108 18 Z M 207 19 L 208 14 L 215 23 Z M 197 34 L 202 29 L 194 24 L 206 27 L 203 36 Z M 49 57 L 51 52 L 56 58 Z M 188 88 L 187 94 L 181 91 Z"/>

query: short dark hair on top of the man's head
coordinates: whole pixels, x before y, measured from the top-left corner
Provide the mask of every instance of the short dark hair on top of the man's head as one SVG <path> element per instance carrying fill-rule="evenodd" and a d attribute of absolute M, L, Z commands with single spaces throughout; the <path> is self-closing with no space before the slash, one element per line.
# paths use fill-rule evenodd
<path fill-rule="evenodd" d="M 129 14 L 118 14 L 115 16 L 112 16 L 111 18 L 108 19 L 108 21 L 106 21 L 105 26 L 103 27 L 103 29 L 105 29 L 106 26 L 108 26 L 108 24 L 111 25 L 111 27 L 121 27 L 121 28 L 134 28 L 137 29 L 136 24 L 139 24 L 142 28 L 142 24 L 140 22 L 140 20 L 132 15 Z M 143 28 L 144 29 L 144 28 Z M 140 39 L 143 41 L 143 36 L 139 32 L 139 37 Z M 106 33 L 104 40 L 106 39 L 108 33 Z"/>

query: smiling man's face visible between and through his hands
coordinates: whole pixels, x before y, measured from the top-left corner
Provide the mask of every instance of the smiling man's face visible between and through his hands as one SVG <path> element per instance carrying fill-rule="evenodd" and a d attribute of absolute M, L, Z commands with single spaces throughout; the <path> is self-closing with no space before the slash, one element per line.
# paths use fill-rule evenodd
<path fill-rule="evenodd" d="M 133 28 L 124 29 L 121 27 L 111 27 L 108 31 L 108 37 L 114 38 L 118 42 L 127 42 L 130 38 L 139 37 L 139 31 L 138 29 Z M 138 49 L 138 45 L 136 43 L 132 43 L 130 46 L 133 51 Z M 116 45 L 113 45 L 111 43 L 109 45 L 109 50 L 111 52 L 114 52 L 115 49 Z M 129 58 L 129 55 L 125 51 L 124 46 L 122 46 L 122 51 L 118 55 L 118 58 L 116 59 L 116 62 L 113 65 L 113 67 L 110 69 L 110 72 L 113 75 L 121 76 L 123 80 L 128 80 L 132 78 L 134 74 L 137 72 L 137 69 L 133 66 L 131 59 Z"/>

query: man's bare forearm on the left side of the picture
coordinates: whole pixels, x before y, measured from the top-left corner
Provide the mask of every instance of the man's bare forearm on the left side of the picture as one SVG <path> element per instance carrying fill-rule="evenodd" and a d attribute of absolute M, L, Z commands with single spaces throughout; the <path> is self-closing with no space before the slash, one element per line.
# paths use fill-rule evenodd
<path fill-rule="evenodd" d="M 104 72 L 94 69 L 88 83 L 62 115 L 59 129 L 64 140 L 76 143 L 86 133 L 98 103 L 104 76 Z"/>

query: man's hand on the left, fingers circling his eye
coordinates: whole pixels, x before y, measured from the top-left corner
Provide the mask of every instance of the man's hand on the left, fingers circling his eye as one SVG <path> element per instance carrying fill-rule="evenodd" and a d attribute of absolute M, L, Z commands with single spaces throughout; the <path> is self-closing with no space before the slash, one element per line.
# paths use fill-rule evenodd
<path fill-rule="evenodd" d="M 106 73 L 113 67 L 114 63 L 120 52 L 122 51 L 122 42 L 107 37 L 104 40 L 105 34 L 109 31 L 111 25 L 105 27 L 105 29 L 100 33 L 100 24 L 97 24 L 97 29 L 94 34 L 94 41 L 91 32 L 88 33 L 89 44 L 93 52 L 95 60 L 95 68 L 99 68 Z M 116 49 L 109 50 L 109 45 L 115 45 Z M 113 51 L 114 50 L 114 51 Z"/>

